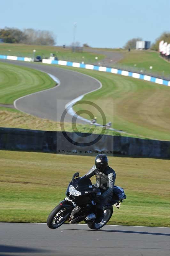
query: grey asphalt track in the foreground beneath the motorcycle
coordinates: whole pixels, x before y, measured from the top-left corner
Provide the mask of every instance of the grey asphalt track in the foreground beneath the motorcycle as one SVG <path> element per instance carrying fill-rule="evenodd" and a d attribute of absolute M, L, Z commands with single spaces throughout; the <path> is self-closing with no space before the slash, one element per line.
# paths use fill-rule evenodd
<path fill-rule="evenodd" d="M 170 228 L 0 223 L 2 256 L 169 256 Z"/>

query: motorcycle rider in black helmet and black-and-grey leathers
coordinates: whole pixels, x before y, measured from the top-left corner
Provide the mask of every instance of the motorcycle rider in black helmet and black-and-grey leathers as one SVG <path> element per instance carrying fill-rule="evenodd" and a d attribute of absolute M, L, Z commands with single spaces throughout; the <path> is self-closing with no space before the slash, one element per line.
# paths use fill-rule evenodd
<path fill-rule="evenodd" d="M 86 177 L 96 176 L 96 185 L 100 188 L 101 196 L 98 197 L 96 220 L 99 223 L 104 215 L 104 206 L 112 198 L 113 186 L 116 179 L 115 171 L 109 167 L 108 158 L 104 154 L 96 156 L 95 165 L 86 173 Z"/>

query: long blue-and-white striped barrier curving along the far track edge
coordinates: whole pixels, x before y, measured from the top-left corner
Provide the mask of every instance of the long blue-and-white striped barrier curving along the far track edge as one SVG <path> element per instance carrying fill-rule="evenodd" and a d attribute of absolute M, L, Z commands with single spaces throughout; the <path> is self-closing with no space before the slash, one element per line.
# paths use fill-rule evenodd
<path fill-rule="evenodd" d="M 10 56 L 10 55 L 0 55 L 0 59 L 6 59 L 6 60 L 22 60 L 22 61 L 34 61 L 33 58 L 28 58 L 28 57 L 17 57 L 17 56 Z M 158 77 L 154 76 L 148 76 L 140 73 L 135 73 L 135 72 L 130 72 L 126 70 L 121 70 L 117 68 L 107 68 L 107 67 L 102 67 L 102 66 L 95 66 L 91 64 L 82 64 L 78 62 L 70 62 L 70 61 L 65 61 L 65 60 L 47 60 L 43 59 L 42 61 L 45 64 L 57 64 L 57 65 L 62 65 L 62 66 L 70 66 L 74 68 L 86 68 L 86 69 L 91 69 L 91 70 L 98 70 L 98 71 L 103 71 L 103 72 L 109 72 L 113 74 L 119 74 L 122 76 L 131 76 L 133 78 L 138 78 L 142 79 L 145 81 L 150 81 L 156 84 L 163 84 L 170 86 L 170 81 L 164 80 Z"/>

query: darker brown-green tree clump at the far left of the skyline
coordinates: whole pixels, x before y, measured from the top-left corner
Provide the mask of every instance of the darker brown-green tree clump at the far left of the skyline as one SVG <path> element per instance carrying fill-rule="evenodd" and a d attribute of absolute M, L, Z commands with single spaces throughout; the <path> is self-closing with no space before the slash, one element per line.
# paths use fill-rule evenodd
<path fill-rule="evenodd" d="M 18 28 L 5 27 L 0 29 L 0 38 L 4 43 L 20 43 L 21 40 L 26 39 L 26 36 Z"/>

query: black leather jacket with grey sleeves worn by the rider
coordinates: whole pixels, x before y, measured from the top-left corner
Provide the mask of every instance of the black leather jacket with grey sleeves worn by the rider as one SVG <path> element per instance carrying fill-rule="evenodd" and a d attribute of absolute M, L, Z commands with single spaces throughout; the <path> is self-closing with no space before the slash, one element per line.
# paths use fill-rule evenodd
<path fill-rule="evenodd" d="M 116 180 L 116 173 L 115 171 L 107 166 L 104 172 L 99 172 L 94 165 L 89 172 L 86 173 L 86 177 L 91 178 L 92 176 L 96 176 L 96 185 L 102 193 L 102 198 L 104 199 L 109 194 L 113 193 L 114 182 Z"/>

